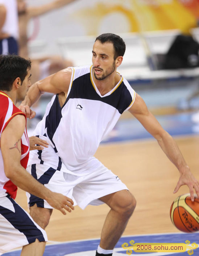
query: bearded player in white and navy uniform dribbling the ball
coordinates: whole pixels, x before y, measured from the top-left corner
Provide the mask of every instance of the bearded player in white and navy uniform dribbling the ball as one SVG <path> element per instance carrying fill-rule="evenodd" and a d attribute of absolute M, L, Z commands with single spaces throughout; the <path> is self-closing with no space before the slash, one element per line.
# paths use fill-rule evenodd
<path fill-rule="evenodd" d="M 136 199 L 121 180 L 94 157 L 100 141 L 115 126 L 120 115 L 129 111 L 157 139 L 175 164 L 180 178 L 174 192 L 187 184 L 191 198 L 199 183 L 192 175 L 177 144 L 149 112 L 144 100 L 116 69 L 123 61 L 125 43 L 121 37 L 105 33 L 96 38 L 92 65 L 70 67 L 33 84 L 20 108 L 27 117 L 30 107 L 43 92 L 54 93 L 34 135 L 46 139 L 49 147 L 32 152 L 29 172 L 36 176 L 54 169 L 43 184 L 75 199 L 82 209 L 88 204 L 106 203 L 105 219 L 96 255 L 110 256 L 136 207 Z M 62 175 L 63 172 L 63 175 Z M 59 177 L 57 188 L 55 180 Z M 61 185 L 62 180 L 62 185 Z M 49 222 L 52 207 L 45 200 L 29 197 L 30 215 L 42 227 Z M 45 216 L 45 218 L 40 218 Z"/>

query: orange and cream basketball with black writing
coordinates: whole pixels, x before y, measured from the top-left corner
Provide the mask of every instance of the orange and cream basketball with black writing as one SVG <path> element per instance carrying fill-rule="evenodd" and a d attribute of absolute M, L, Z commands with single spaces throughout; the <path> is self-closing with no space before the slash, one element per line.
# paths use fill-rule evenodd
<path fill-rule="evenodd" d="M 178 196 L 170 208 L 171 221 L 180 231 L 191 233 L 199 230 L 199 199 L 191 201 L 190 194 Z"/>

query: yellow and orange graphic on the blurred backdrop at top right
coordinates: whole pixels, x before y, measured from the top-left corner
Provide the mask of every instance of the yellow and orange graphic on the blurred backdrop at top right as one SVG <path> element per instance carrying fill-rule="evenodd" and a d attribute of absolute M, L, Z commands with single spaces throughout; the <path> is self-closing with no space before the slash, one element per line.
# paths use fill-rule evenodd
<path fill-rule="evenodd" d="M 121 33 L 164 29 L 179 29 L 187 33 L 190 28 L 196 27 L 199 0 L 125 0 L 121 1 L 121 4 L 118 4 L 118 1 L 117 4 L 113 1 L 109 3 L 101 1 L 101 3 L 96 2 L 92 7 L 85 6 L 73 16 L 84 25 L 87 35 L 98 35 L 103 20 L 114 13 L 116 17 L 118 14 L 125 17 L 128 23 L 129 31 L 126 31 L 127 27 L 125 27 Z M 117 21 L 117 19 L 113 21 L 116 26 Z"/>

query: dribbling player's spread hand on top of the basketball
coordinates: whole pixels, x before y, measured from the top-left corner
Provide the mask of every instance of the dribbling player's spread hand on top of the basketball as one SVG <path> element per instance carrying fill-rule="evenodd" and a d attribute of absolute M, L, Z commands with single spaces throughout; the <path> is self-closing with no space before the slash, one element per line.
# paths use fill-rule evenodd
<path fill-rule="evenodd" d="M 199 198 L 199 182 L 195 179 L 194 175 L 192 175 L 191 171 L 183 172 L 178 180 L 177 186 L 174 189 L 174 193 L 178 191 L 178 189 L 182 185 L 187 185 L 190 190 L 191 201 L 194 201 L 194 189 L 196 195 Z"/>

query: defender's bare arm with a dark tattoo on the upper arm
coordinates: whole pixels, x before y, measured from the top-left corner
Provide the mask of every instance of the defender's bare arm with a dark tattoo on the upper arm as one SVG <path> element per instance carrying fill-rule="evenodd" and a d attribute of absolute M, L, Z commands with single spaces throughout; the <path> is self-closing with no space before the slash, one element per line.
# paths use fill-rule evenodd
<path fill-rule="evenodd" d="M 22 167 L 20 163 L 21 136 L 24 133 L 24 129 L 25 117 L 23 115 L 16 115 L 9 121 L 1 134 L 1 152 L 5 175 L 17 187 L 45 199 L 52 207 L 58 209 L 63 214 L 66 214 L 64 209 L 71 212 L 71 209 L 74 209 L 71 199 L 50 191 Z"/>

